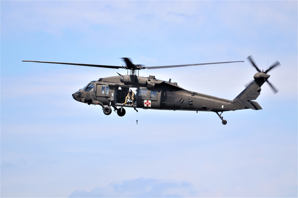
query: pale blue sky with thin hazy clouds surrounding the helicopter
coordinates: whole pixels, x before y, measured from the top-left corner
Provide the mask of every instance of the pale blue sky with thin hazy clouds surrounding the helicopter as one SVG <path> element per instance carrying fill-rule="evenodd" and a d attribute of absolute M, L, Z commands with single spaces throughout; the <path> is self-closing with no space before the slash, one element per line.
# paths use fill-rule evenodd
<path fill-rule="evenodd" d="M 297 1 L 0 1 L 1 197 L 297 197 Z M 132 108 L 72 94 L 121 66 L 234 99 L 275 61 L 263 110 Z M 138 120 L 138 122 L 136 122 Z"/>

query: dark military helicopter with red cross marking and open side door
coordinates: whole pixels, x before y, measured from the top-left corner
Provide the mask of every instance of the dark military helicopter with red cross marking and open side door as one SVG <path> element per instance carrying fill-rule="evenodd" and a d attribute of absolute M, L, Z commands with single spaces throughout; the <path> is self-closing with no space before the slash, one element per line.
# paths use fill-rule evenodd
<path fill-rule="evenodd" d="M 72 94 L 73 98 L 79 102 L 86 104 L 100 105 L 103 107 L 103 113 L 110 115 L 112 108 L 119 116 L 125 115 L 124 107 L 132 107 L 143 109 L 159 109 L 159 110 L 187 110 L 187 111 L 210 111 L 215 112 L 222 123 L 225 125 L 226 120 L 221 116 L 225 111 L 235 111 L 242 109 L 260 110 L 262 107 L 255 101 L 260 95 L 261 86 L 267 81 L 270 75 L 267 73 L 280 63 L 276 61 L 266 71 L 260 70 L 254 63 L 251 56 L 247 59 L 257 69 L 254 75 L 254 80 L 234 99 L 228 100 L 209 96 L 206 94 L 188 91 L 177 83 L 158 80 L 155 76 L 140 77 L 136 75 L 136 70 L 141 69 L 162 69 L 184 66 L 198 66 L 208 64 L 224 64 L 244 61 L 218 62 L 218 63 L 201 63 L 201 64 L 186 64 L 186 65 L 169 65 L 169 66 L 151 66 L 147 67 L 141 64 L 133 64 L 129 58 L 122 58 L 126 65 L 108 66 L 108 65 L 93 65 L 93 64 L 77 64 L 63 62 L 47 62 L 47 61 L 23 61 L 23 62 L 38 62 L 52 64 L 67 64 L 91 67 L 103 67 L 111 69 L 127 69 L 131 70 L 130 75 L 100 78 L 97 81 L 91 81 L 84 88 Z M 269 83 L 275 93 L 278 90 Z M 136 94 L 132 90 L 136 91 Z"/>

